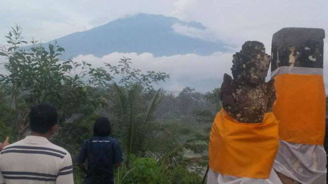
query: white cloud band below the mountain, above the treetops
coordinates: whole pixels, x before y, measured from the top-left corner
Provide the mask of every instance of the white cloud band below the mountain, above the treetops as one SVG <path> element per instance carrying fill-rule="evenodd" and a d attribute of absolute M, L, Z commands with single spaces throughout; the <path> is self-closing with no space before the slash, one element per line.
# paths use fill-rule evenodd
<path fill-rule="evenodd" d="M 167 83 L 162 83 L 165 90 L 181 91 L 184 87 L 195 88 L 199 92 L 208 92 L 220 86 L 224 73 L 231 74 L 232 53 L 214 53 L 210 56 L 195 54 L 154 57 L 150 53 L 111 53 L 102 58 L 93 55 L 80 55 L 73 61 L 88 61 L 94 67 L 105 66 L 105 62 L 117 65 L 122 57 L 132 59 L 133 68 L 161 71 L 170 74 Z M 214 84 L 214 85 L 213 85 Z"/>

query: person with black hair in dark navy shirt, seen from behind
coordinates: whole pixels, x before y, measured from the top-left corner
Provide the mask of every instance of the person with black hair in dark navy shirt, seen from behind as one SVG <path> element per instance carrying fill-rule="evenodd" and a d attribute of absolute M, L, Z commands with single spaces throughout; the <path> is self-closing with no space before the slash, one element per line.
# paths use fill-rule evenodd
<path fill-rule="evenodd" d="M 110 123 L 99 118 L 93 127 L 94 136 L 86 140 L 77 156 L 78 166 L 86 172 L 85 184 L 114 184 L 114 166 L 123 161 L 117 140 L 111 138 Z M 88 167 L 84 164 L 88 158 Z"/>

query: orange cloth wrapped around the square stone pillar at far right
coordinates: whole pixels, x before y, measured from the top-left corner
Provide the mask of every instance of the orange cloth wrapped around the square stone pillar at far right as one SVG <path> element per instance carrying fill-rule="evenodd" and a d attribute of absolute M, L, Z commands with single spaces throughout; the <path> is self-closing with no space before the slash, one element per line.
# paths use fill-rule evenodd
<path fill-rule="evenodd" d="M 279 74 L 273 113 L 280 139 L 291 143 L 323 145 L 326 92 L 322 75 Z"/>

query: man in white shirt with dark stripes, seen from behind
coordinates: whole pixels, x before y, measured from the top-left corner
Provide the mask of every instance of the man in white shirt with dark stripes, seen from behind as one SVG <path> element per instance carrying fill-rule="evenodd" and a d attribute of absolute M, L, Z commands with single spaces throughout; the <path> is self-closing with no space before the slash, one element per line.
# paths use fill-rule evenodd
<path fill-rule="evenodd" d="M 70 153 L 48 141 L 58 129 L 57 122 L 52 105 L 31 109 L 31 136 L 0 152 L 0 184 L 73 184 Z"/>

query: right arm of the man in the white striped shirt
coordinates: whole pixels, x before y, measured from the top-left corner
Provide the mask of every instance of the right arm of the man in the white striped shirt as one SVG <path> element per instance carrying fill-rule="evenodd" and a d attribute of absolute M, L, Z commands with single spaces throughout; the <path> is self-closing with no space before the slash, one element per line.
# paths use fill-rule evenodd
<path fill-rule="evenodd" d="M 59 170 L 56 184 L 74 184 L 71 154 L 67 153 L 63 159 L 62 168 Z"/>

